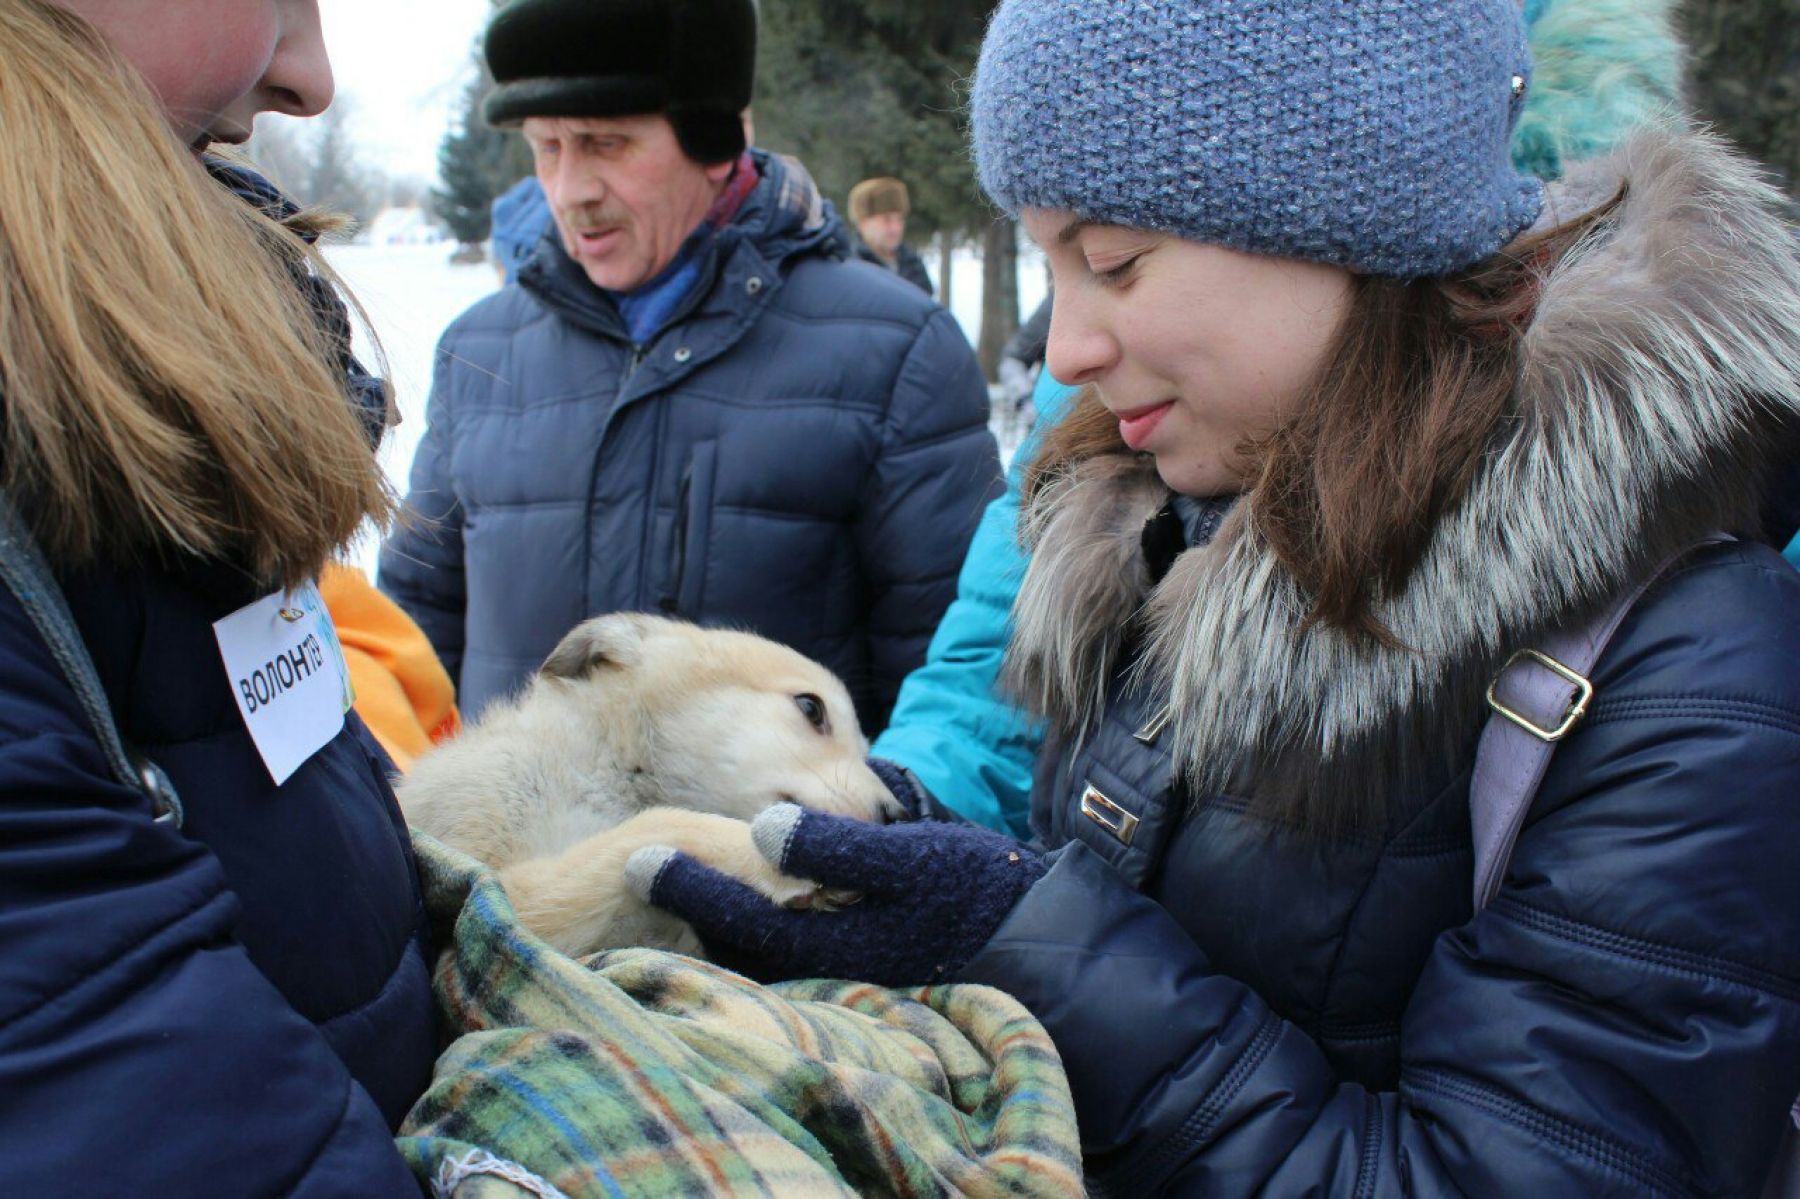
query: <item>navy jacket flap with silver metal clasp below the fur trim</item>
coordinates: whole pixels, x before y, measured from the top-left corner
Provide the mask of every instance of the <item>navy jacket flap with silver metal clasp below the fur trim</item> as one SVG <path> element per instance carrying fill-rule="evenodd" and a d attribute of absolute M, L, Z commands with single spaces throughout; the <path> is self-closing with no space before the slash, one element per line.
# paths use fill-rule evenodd
<path fill-rule="evenodd" d="M 1143 888 L 1181 821 L 1166 740 L 1159 704 L 1114 691 L 1098 727 L 1055 772 L 1048 848 L 1080 841 Z"/>

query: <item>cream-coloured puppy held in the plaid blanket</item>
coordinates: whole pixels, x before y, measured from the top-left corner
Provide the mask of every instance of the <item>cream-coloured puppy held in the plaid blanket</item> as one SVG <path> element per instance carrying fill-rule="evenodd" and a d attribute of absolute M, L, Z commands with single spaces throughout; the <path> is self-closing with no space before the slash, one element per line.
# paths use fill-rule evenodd
<path fill-rule="evenodd" d="M 815 888 L 769 866 L 749 821 L 781 801 L 898 817 L 866 754 L 824 666 L 751 634 L 621 612 L 576 627 L 517 699 L 396 790 L 414 828 L 495 868 L 526 927 L 563 952 L 691 954 L 698 938 L 632 895 L 625 859 L 675 846 L 810 906 Z"/>

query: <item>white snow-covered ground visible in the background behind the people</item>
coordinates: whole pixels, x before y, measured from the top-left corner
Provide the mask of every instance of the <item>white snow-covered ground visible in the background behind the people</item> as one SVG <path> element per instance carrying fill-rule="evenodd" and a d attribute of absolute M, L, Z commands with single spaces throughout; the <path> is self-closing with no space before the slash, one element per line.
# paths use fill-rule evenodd
<path fill-rule="evenodd" d="M 491 265 L 455 266 L 450 263 L 452 245 L 338 245 L 326 252 L 331 265 L 356 293 L 369 315 L 369 324 L 387 356 L 387 376 L 394 382 L 400 403 L 400 427 L 382 443 L 382 468 L 405 495 L 412 454 L 425 432 L 425 400 L 432 385 L 432 351 L 443 333 L 464 308 L 488 295 L 497 286 Z M 936 257 L 929 259 L 936 274 Z M 1042 256 L 1021 245 L 1019 254 L 1019 317 L 1031 315 L 1044 299 Z M 981 259 L 959 254 L 950 274 L 950 311 L 963 326 L 970 342 L 981 331 Z M 358 353 L 373 369 L 367 338 L 358 342 Z M 1010 446 L 1006 446 L 1010 448 Z M 378 544 L 365 535 L 355 545 L 351 560 L 374 574 Z"/>

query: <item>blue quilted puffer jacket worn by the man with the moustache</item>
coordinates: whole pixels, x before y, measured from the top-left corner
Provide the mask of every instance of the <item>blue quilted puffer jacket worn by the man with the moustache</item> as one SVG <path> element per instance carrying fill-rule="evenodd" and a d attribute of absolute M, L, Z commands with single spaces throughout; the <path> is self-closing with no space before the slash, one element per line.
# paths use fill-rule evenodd
<path fill-rule="evenodd" d="M 844 263 L 797 166 L 713 238 L 648 346 L 554 238 L 457 319 L 380 585 L 479 715 L 574 625 L 662 610 L 763 634 L 868 731 L 950 603 L 999 490 L 986 385 L 949 311 Z"/>

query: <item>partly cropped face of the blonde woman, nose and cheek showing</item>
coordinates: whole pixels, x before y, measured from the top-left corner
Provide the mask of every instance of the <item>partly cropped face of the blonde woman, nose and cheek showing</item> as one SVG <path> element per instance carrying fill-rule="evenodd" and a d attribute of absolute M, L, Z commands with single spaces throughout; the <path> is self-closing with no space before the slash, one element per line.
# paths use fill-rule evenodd
<path fill-rule="evenodd" d="M 52 0 L 86 18 L 162 101 L 198 153 L 243 142 L 257 113 L 317 117 L 331 103 L 319 0 Z"/>

